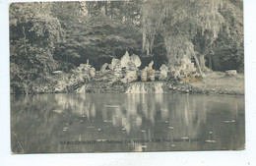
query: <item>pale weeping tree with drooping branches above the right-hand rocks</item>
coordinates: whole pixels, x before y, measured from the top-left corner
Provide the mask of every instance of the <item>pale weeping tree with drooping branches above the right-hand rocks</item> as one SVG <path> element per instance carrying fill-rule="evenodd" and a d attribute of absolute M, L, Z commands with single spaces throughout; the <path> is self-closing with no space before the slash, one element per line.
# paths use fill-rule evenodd
<path fill-rule="evenodd" d="M 205 57 L 213 52 L 213 43 L 228 19 L 220 11 L 230 3 L 228 0 L 143 0 L 143 51 L 151 54 L 155 36 L 161 32 L 170 66 L 182 56 L 189 56 L 195 59 L 202 73 L 206 70 Z"/>

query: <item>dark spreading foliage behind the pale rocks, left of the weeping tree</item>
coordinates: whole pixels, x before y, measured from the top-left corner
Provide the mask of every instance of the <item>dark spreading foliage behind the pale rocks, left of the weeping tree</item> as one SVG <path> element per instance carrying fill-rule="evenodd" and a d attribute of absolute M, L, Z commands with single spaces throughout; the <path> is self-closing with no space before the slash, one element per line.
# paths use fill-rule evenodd
<path fill-rule="evenodd" d="M 120 58 L 126 50 L 140 53 L 141 32 L 133 24 L 135 19 L 128 19 L 133 17 L 132 14 L 131 17 L 126 14 L 126 21 L 122 19 L 124 11 L 121 9 L 126 3 L 112 3 L 54 3 L 54 15 L 65 31 L 64 39 L 54 53 L 55 59 L 76 66 L 89 59 L 96 69 L 100 69 L 111 58 Z"/>

